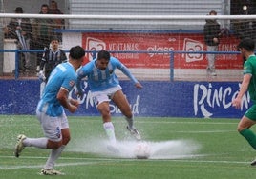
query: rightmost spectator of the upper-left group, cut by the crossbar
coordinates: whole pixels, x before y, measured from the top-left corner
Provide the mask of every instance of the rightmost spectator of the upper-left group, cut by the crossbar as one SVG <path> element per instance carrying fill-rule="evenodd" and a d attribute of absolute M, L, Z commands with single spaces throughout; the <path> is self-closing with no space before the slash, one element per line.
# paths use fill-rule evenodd
<path fill-rule="evenodd" d="M 61 10 L 58 9 L 57 3 L 55 1 L 51 1 L 50 4 L 50 14 L 63 14 Z M 54 29 L 65 29 L 65 21 L 64 19 L 53 19 L 54 22 Z M 53 32 L 60 41 L 62 41 L 62 34 L 59 32 Z"/>

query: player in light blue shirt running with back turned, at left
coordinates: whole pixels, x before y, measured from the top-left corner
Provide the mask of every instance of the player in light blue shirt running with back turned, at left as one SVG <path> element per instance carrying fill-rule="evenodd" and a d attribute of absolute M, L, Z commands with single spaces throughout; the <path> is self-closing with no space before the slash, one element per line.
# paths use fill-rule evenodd
<path fill-rule="evenodd" d="M 68 119 L 63 108 L 74 113 L 78 101 L 68 98 L 69 92 L 77 80 L 76 70 L 81 66 L 85 51 L 80 46 L 71 48 L 69 61 L 59 64 L 51 73 L 49 81 L 36 109 L 36 116 L 41 124 L 45 137 L 29 138 L 18 135 L 14 154 L 19 157 L 25 147 L 52 149 L 50 156 L 41 170 L 44 175 L 63 174 L 54 170 L 55 161 L 70 141 Z"/>

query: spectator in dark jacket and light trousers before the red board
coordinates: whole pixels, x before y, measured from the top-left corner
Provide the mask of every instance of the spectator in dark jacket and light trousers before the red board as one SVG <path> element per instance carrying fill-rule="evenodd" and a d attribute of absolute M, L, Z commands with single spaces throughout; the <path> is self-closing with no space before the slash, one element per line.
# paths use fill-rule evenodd
<path fill-rule="evenodd" d="M 209 12 L 209 15 L 217 15 L 217 12 L 215 10 L 211 10 Z M 221 36 L 221 28 L 220 24 L 217 22 L 214 17 L 212 19 L 206 19 L 206 23 L 203 27 L 203 35 L 204 35 L 204 42 L 207 46 L 207 51 L 214 52 L 218 51 L 218 45 L 220 44 L 220 36 Z M 216 61 L 216 54 L 209 53 L 207 56 L 207 74 L 210 74 L 212 76 L 216 76 L 216 70 L 215 70 L 215 61 Z"/>

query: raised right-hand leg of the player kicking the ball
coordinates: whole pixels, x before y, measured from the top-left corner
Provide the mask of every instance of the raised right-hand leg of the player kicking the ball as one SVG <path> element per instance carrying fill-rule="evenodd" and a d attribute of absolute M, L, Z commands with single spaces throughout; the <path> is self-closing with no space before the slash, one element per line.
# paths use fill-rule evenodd
<path fill-rule="evenodd" d="M 117 105 L 118 109 L 120 109 L 122 114 L 125 116 L 125 119 L 128 122 L 127 129 L 130 130 L 133 136 L 140 140 L 141 137 L 139 131 L 134 127 L 134 116 L 131 107 L 122 90 L 117 90 L 112 96 L 112 100 Z"/>

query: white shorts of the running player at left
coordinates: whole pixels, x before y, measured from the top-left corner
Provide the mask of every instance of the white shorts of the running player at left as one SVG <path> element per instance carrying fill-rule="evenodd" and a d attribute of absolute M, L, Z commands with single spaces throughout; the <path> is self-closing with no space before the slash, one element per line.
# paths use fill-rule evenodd
<path fill-rule="evenodd" d="M 62 140 L 61 129 L 69 128 L 68 119 L 64 111 L 61 116 L 51 117 L 37 110 L 36 116 L 44 131 L 45 137 L 56 142 Z"/>

